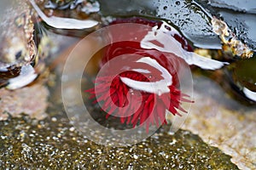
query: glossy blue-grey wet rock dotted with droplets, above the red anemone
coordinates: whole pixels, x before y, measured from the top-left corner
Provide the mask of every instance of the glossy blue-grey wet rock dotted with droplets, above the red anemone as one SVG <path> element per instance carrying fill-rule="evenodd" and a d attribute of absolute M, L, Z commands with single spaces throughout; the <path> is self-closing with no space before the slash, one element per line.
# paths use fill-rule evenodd
<path fill-rule="evenodd" d="M 172 25 L 187 37 L 196 47 L 200 48 L 221 48 L 218 36 L 212 32 L 209 25 L 211 15 L 205 13 L 204 9 L 194 1 L 131 1 L 134 5 L 128 6 L 130 1 L 119 1 L 125 6 L 119 10 L 113 10 L 113 2 L 103 2 L 102 14 L 112 14 L 113 16 L 139 15 L 169 20 Z M 193 2 L 193 3 L 192 3 Z M 204 43 L 202 43 L 204 42 Z"/>

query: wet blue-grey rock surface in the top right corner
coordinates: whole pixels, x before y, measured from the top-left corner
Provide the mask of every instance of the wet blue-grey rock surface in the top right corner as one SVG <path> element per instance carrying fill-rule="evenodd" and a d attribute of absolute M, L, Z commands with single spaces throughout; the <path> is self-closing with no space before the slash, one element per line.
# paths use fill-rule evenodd
<path fill-rule="evenodd" d="M 215 13 L 212 14 L 221 17 L 228 26 L 230 26 L 230 29 L 236 33 L 236 36 L 239 39 L 246 42 L 253 51 L 256 50 L 256 37 L 254 31 L 256 26 L 255 1 L 199 0 L 199 3 L 205 8 L 209 8 L 211 13 L 212 11 L 215 11 Z"/>

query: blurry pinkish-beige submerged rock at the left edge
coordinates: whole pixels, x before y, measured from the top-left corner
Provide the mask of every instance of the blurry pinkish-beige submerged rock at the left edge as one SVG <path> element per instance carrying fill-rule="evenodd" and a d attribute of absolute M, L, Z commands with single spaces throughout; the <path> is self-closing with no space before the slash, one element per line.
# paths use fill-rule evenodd
<path fill-rule="evenodd" d="M 20 117 L 21 113 L 38 120 L 44 119 L 47 116 L 48 96 L 48 89 L 39 84 L 15 91 L 1 88 L 0 121 L 7 120 L 9 116 Z"/>

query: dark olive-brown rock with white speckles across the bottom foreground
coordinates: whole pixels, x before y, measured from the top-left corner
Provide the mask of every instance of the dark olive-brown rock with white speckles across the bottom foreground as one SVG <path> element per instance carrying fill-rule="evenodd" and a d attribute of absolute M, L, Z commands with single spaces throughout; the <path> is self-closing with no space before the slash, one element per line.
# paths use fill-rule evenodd
<path fill-rule="evenodd" d="M 66 116 L 36 121 L 28 116 L 0 122 L 0 167 L 11 169 L 238 169 L 230 156 L 197 135 L 168 126 L 131 147 L 95 144 Z"/>

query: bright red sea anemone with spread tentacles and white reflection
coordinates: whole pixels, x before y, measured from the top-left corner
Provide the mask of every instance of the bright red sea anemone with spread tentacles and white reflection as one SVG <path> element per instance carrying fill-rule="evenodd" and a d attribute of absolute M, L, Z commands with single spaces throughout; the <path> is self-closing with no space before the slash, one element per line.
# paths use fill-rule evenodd
<path fill-rule="evenodd" d="M 161 25 L 161 22 L 132 20 L 149 26 Z M 107 112 L 106 118 L 118 116 L 120 122 L 131 123 L 133 127 L 145 122 L 148 130 L 150 124 L 159 127 L 166 123 L 166 111 L 182 116 L 181 111 L 186 113 L 181 107 L 182 102 L 191 101 L 179 90 L 177 77 L 177 71 L 182 69 L 185 61 L 176 54 L 142 48 L 140 42 L 147 31 L 138 32 L 137 41 L 113 42 L 108 46 L 102 59 L 102 65 L 108 65 L 108 69 L 96 78 L 95 88 L 87 92 Z M 182 40 L 183 48 L 191 50 L 183 37 L 177 39 Z M 119 59 L 114 60 L 116 58 Z"/>

